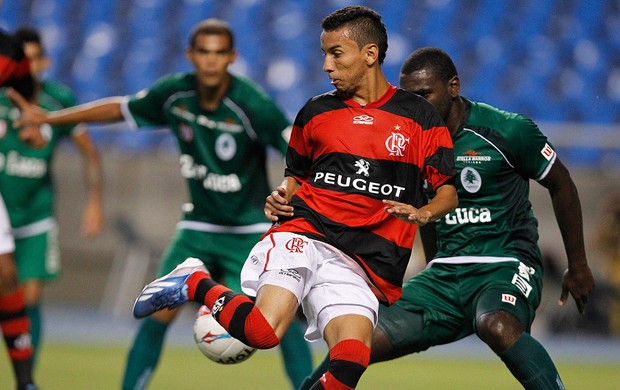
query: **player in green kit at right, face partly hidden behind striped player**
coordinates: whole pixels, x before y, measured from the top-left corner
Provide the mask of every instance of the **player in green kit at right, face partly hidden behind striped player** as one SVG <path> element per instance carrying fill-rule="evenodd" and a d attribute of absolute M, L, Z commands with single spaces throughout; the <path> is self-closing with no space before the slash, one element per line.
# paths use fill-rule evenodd
<path fill-rule="evenodd" d="M 581 313 L 594 279 L 568 170 L 532 121 L 461 97 L 456 67 L 442 50 L 411 54 L 401 68 L 400 84 L 428 99 L 450 129 L 459 206 L 435 227 L 423 228 L 432 261 L 403 285 L 399 301 L 381 306 L 371 363 L 476 333 L 524 388 L 562 389 L 549 354 L 529 334 L 543 269 L 528 194 L 530 179 L 549 190 L 568 257 L 560 304 L 570 293 Z M 321 375 L 321 366 L 302 389 Z"/>

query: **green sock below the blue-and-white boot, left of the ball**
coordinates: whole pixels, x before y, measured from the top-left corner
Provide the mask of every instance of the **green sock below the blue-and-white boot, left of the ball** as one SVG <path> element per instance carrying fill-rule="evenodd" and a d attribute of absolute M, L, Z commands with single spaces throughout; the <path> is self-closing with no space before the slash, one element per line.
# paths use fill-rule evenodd
<path fill-rule="evenodd" d="M 123 377 L 123 390 L 145 389 L 159 361 L 168 324 L 146 318 L 134 339 Z"/>

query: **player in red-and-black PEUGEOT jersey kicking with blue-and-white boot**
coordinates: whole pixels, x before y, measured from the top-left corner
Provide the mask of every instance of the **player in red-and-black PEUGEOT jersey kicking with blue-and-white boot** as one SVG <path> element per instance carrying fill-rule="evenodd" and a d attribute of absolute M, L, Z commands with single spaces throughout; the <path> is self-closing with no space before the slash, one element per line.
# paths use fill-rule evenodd
<path fill-rule="evenodd" d="M 190 258 L 143 289 L 134 315 L 201 302 L 232 336 L 267 349 L 301 304 L 306 338 L 322 336 L 330 348 L 329 367 L 313 388 L 353 389 L 368 365 L 379 300 L 391 304 L 401 295 L 416 224 L 442 218 L 458 200 L 452 141 L 439 113 L 383 73 L 381 16 L 345 7 L 322 27 L 323 70 L 335 90 L 310 99 L 294 122 L 276 192 L 295 214 L 264 235 L 241 274 L 256 304 Z M 428 203 L 425 182 L 437 193 Z M 406 215 L 397 201 L 408 205 Z"/>

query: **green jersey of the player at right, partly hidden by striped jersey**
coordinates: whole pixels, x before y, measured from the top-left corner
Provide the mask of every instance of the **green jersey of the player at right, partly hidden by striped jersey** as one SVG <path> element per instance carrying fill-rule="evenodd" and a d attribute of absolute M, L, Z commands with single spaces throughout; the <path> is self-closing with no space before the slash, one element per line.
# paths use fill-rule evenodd
<path fill-rule="evenodd" d="M 459 205 L 437 223 L 435 258 L 482 262 L 512 257 L 540 267 L 529 180 L 541 180 L 551 169 L 553 146 L 521 115 L 467 104 L 467 123 L 453 137 Z"/>

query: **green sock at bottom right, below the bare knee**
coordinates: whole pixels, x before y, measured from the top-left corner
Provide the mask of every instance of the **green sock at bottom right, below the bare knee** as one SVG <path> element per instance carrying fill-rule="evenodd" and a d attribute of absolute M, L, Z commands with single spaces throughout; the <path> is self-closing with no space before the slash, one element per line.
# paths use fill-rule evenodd
<path fill-rule="evenodd" d="M 499 357 L 525 389 L 564 389 L 547 350 L 527 333 Z"/>

